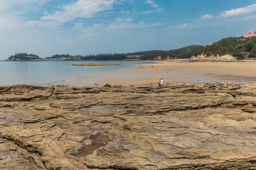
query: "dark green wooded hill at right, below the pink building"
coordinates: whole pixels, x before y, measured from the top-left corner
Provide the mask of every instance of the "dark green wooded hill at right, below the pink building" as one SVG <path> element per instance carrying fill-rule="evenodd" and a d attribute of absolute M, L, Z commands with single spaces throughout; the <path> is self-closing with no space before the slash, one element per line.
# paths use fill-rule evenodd
<path fill-rule="evenodd" d="M 256 36 L 244 38 L 229 37 L 223 38 L 212 45 L 207 45 L 200 50 L 195 51 L 194 56 L 201 54 L 209 56 L 223 56 L 229 54 L 236 59 L 245 59 L 247 57 L 256 57 Z"/>

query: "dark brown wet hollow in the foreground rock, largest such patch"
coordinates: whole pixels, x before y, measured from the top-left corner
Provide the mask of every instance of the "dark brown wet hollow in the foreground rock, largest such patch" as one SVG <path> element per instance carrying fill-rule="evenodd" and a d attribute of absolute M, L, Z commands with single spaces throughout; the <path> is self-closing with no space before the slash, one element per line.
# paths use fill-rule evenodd
<path fill-rule="evenodd" d="M 85 158 L 87 155 L 93 154 L 93 151 L 102 147 L 106 146 L 106 143 L 112 141 L 110 138 L 103 134 L 98 134 L 97 136 L 93 136 L 90 138 L 93 140 L 90 146 L 84 146 L 82 149 L 78 150 L 78 153 L 72 154 L 78 158 Z"/>

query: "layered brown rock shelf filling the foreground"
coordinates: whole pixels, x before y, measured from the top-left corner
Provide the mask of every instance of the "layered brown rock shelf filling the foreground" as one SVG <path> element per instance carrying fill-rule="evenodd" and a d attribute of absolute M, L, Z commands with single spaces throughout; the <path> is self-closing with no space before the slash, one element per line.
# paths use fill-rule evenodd
<path fill-rule="evenodd" d="M 256 84 L 0 86 L 0 169 L 256 168 Z"/>

